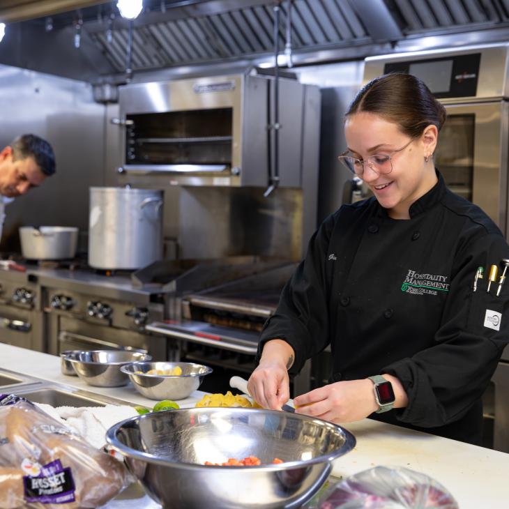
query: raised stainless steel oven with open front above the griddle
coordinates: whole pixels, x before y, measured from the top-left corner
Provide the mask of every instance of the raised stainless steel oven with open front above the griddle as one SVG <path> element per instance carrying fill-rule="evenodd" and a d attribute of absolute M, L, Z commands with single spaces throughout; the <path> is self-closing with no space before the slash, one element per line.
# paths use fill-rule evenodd
<path fill-rule="evenodd" d="M 306 154 L 318 150 L 320 95 L 282 74 L 277 87 L 257 70 L 120 87 L 120 172 L 191 186 L 267 187 L 277 178 L 301 188 L 303 166 L 316 163 Z"/>

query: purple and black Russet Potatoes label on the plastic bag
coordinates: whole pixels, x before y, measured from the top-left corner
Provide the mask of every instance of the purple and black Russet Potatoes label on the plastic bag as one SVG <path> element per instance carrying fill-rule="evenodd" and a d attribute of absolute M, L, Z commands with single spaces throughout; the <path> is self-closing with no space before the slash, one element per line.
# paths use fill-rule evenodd
<path fill-rule="evenodd" d="M 23 476 L 26 502 L 68 503 L 75 501 L 75 483 L 70 468 L 59 459 L 41 467 L 37 477 Z"/>

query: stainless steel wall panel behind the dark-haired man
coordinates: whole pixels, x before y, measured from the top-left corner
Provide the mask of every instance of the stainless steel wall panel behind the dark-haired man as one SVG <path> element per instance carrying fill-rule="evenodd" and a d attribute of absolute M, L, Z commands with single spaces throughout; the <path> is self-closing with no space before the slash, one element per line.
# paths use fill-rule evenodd
<path fill-rule="evenodd" d="M 18 227 L 89 224 L 89 186 L 102 185 L 105 107 L 84 82 L 0 66 L 0 145 L 24 133 L 47 139 L 56 155 L 56 175 L 6 207 L 3 250 L 19 250 Z"/>

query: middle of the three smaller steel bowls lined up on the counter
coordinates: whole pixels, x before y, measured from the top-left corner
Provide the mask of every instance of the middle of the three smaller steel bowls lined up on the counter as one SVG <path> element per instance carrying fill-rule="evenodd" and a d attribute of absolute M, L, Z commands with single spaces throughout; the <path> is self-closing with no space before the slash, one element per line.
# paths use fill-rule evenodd
<path fill-rule="evenodd" d="M 130 350 L 80 351 L 74 358 L 68 357 L 77 376 L 91 386 L 125 386 L 129 379 L 120 368 L 137 360 L 151 360 L 151 356 Z"/>

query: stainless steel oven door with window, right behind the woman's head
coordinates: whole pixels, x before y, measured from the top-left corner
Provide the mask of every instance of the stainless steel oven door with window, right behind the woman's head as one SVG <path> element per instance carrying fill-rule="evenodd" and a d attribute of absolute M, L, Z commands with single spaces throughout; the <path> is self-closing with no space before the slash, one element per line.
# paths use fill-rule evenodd
<path fill-rule="evenodd" d="M 508 103 L 444 106 L 436 167 L 451 190 L 480 206 L 507 235 Z"/>

